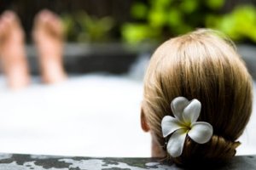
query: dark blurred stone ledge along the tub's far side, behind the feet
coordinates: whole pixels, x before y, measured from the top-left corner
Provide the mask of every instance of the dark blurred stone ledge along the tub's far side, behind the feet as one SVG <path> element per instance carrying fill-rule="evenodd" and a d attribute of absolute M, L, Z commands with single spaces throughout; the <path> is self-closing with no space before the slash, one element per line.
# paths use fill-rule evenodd
<path fill-rule="evenodd" d="M 140 54 L 152 54 L 155 44 L 129 46 L 123 43 L 67 43 L 64 49 L 64 66 L 68 73 L 108 72 L 123 74 Z M 256 79 L 256 46 L 239 44 L 239 54 Z M 38 54 L 34 46 L 27 45 L 26 52 L 32 74 L 38 74 Z M 148 55 L 149 59 L 149 55 Z"/>

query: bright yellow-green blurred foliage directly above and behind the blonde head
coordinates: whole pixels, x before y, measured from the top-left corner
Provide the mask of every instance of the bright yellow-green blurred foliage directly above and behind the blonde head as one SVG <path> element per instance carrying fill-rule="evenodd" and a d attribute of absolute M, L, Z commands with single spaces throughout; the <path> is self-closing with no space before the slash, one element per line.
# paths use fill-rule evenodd
<path fill-rule="evenodd" d="M 125 42 L 163 41 L 199 27 L 211 27 L 234 40 L 256 42 L 256 9 L 234 8 L 220 14 L 224 0 L 148 0 L 136 1 L 131 8 L 133 21 L 124 24 L 121 34 Z"/>

